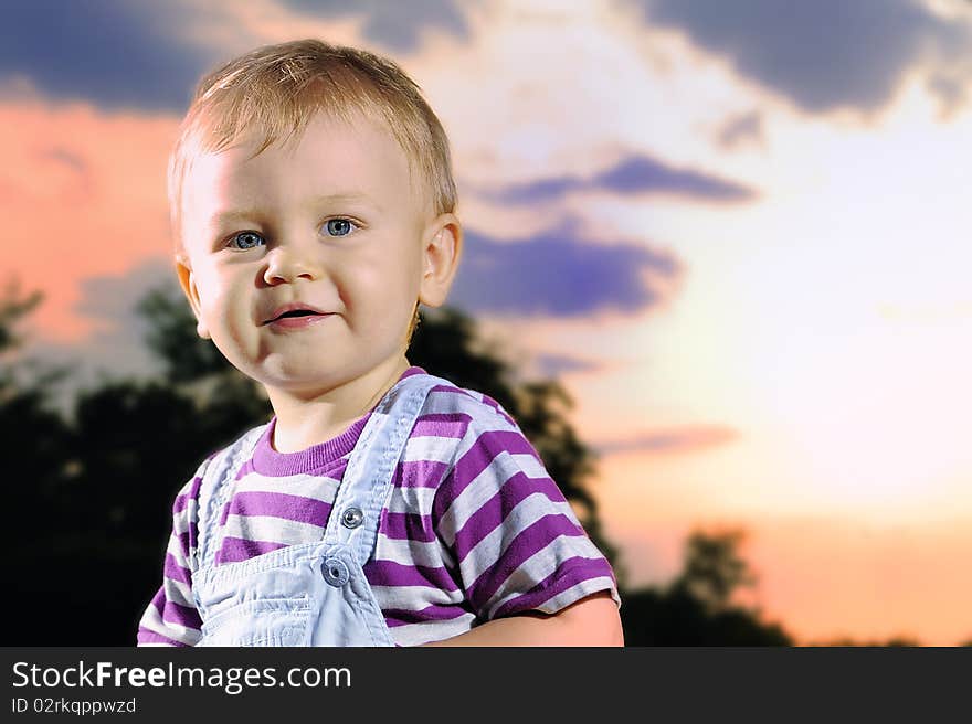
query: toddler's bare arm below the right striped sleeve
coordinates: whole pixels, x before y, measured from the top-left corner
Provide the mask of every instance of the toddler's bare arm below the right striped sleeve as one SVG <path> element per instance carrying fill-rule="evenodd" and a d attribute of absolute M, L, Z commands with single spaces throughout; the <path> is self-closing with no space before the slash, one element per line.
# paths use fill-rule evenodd
<path fill-rule="evenodd" d="M 617 606 L 602 590 L 552 615 L 532 611 L 497 618 L 425 646 L 624 646 L 624 634 Z"/>

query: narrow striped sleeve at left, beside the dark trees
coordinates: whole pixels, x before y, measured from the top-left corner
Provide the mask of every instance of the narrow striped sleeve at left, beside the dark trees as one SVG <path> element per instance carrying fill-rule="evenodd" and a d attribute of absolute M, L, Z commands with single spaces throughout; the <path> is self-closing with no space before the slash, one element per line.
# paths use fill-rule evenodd
<path fill-rule="evenodd" d="M 162 585 L 138 624 L 138 646 L 194 646 L 202 637 L 202 621 L 192 599 L 189 555 L 196 546 L 199 487 L 208 464 L 209 459 L 176 496 Z"/>

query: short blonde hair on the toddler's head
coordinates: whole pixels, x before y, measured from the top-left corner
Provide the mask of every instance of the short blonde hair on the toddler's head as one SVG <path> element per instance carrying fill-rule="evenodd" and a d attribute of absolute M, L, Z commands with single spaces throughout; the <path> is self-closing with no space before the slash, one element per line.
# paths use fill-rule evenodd
<path fill-rule="evenodd" d="M 421 89 L 392 61 L 368 51 L 299 40 L 258 47 L 204 76 L 169 158 L 168 193 L 177 254 L 182 251 L 182 191 L 192 161 L 262 135 L 254 156 L 299 136 L 319 111 L 383 121 L 414 179 L 425 182 L 436 215 L 456 206 L 448 139 Z M 418 320 L 418 306 L 409 338 Z"/>

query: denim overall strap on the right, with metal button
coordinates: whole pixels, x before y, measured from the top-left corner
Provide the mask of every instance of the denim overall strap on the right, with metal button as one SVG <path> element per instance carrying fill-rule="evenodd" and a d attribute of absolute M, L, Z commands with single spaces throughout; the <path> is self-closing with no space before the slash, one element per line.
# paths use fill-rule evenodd
<path fill-rule="evenodd" d="M 324 540 L 346 544 L 359 565 L 371 557 L 395 467 L 430 390 L 450 382 L 430 374 L 400 380 L 378 403 L 335 496 Z"/>

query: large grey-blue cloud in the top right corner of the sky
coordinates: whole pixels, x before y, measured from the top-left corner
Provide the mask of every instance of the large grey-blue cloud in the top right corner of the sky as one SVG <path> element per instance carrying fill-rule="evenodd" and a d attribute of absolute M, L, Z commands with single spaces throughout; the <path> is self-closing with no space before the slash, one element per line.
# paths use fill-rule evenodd
<path fill-rule="evenodd" d="M 874 110 L 928 54 L 970 60 L 972 25 L 916 0 L 631 0 L 652 25 L 684 30 L 802 109 Z M 968 71 L 966 66 L 966 71 Z M 969 73 L 965 73 L 969 78 Z"/>

